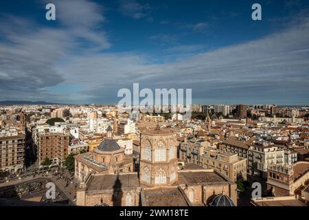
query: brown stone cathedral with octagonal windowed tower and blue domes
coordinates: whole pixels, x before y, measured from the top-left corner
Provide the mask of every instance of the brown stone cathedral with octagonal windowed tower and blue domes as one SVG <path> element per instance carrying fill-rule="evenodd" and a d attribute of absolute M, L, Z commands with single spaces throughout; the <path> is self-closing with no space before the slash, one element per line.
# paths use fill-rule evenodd
<path fill-rule="evenodd" d="M 102 144 L 104 149 L 108 148 L 111 158 L 122 154 L 114 144 L 111 141 Z M 93 163 L 92 167 L 104 163 L 105 172 L 88 170 L 87 175 L 79 179 L 77 205 L 236 206 L 236 183 L 213 169 L 204 169 L 196 164 L 179 166 L 178 145 L 176 133 L 159 126 L 141 133 L 138 172 L 129 170 L 131 164 L 128 165 L 128 161 L 119 156 L 118 163 L 115 163 L 115 158 L 102 162 L 100 145 L 95 152 L 99 156 L 93 155 L 95 162 L 100 164 Z M 76 158 L 78 162 L 80 157 Z M 80 165 L 76 166 L 76 172 L 80 172 Z M 76 174 L 76 177 L 79 175 Z"/>

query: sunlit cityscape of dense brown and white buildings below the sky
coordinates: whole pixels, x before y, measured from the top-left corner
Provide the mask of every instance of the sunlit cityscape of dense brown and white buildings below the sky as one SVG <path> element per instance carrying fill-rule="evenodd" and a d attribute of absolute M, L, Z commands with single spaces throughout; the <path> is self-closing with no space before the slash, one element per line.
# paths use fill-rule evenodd
<path fill-rule="evenodd" d="M 308 206 L 309 107 L 193 104 L 190 120 L 95 104 L 0 112 L 7 205 Z"/>

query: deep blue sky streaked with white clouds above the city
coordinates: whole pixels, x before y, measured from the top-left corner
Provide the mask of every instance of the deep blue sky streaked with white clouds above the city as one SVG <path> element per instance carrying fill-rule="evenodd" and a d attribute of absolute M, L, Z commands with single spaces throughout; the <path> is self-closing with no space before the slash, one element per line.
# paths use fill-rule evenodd
<path fill-rule="evenodd" d="M 309 104 L 309 1 L 0 4 L 0 100 L 117 104 L 139 83 L 194 104 Z"/>

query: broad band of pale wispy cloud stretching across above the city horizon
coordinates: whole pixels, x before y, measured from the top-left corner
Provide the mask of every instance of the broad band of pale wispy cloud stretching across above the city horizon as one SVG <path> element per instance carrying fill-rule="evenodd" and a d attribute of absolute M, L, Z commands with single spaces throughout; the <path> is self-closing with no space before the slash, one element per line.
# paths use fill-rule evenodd
<path fill-rule="evenodd" d="M 57 4 L 57 29 L 18 17 L 0 19 L 0 34 L 5 38 L 0 41 L 1 100 L 115 103 L 118 89 L 140 83 L 149 88 L 192 88 L 196 102 L 251 103 L 254 99 L 308 104 L 306 14 L 280 32 L 207 52 L 201 45 L 179 45 L 179 36 L 173 34 L 154 35 L 150 40 L 165 44 L 163 53 L 190 54 L 158 64 L 157 56 L 145 52 L 104 51 L 111 47 L 104 30 L 98 28 L 105 21 L 104 9 L 89 1 L 76 2 L 81 11 Z M 61 10 L 73 13 L 70 18 L 88 20 L 62 21 L 67 14 Z M 70 89 L 59 89 L 63 87 Z"/>

